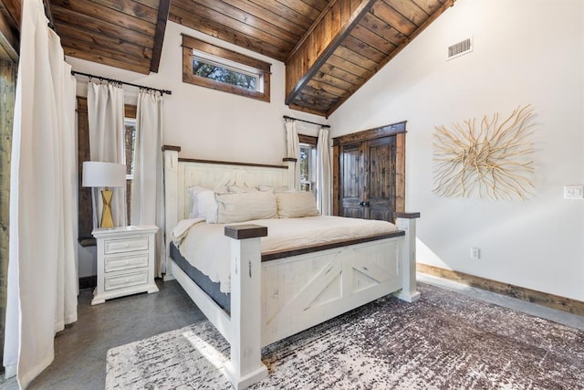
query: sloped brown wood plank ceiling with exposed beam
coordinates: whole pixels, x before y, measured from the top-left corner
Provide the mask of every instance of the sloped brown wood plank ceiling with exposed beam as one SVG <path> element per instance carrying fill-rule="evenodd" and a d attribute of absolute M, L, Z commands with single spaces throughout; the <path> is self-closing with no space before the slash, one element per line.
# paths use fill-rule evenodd
<path fill-rule="evenodd" d="M 454 0 L 47 2 L 68 56 L 155 72 L 168 18 L 285 62 L 286 103 L 326 117 L 454 4 Z"/>

